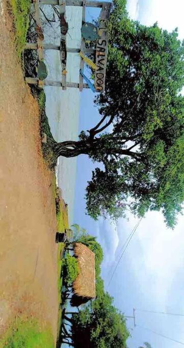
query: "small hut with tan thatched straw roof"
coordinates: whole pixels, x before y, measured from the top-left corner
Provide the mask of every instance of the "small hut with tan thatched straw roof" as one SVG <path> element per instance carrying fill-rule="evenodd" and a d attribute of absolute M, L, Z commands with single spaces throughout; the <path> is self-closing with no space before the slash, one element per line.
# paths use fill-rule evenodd
<path fill-rule="evenodd" d="M 71 304 L 79 306 L 95 298 L 95 254 L 84 244 L 75 243 L 74 256 L 77 259 L 79 274 L 73 282 Z"/>

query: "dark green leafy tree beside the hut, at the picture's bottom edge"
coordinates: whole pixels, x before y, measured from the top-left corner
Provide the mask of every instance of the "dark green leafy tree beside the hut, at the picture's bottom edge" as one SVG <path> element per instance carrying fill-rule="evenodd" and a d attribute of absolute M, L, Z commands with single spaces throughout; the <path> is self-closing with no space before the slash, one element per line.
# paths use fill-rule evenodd
<path fill-rule="evenodd" d="M 72 340 L 77 348 L 125 348 L 129 332 L 124 316 L 108 293 L 72 316 Z"/>

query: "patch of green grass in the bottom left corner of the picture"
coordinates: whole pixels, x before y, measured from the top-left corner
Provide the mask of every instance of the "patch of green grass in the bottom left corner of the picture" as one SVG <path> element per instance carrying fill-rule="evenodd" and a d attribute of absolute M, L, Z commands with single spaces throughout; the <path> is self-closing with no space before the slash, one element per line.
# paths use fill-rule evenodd
<path fill-rule="evenodd" d="M 54 348 L 50 329 L 41 329 L 35 319 L 16 318 L 0 339 L 1 348 Z"/>

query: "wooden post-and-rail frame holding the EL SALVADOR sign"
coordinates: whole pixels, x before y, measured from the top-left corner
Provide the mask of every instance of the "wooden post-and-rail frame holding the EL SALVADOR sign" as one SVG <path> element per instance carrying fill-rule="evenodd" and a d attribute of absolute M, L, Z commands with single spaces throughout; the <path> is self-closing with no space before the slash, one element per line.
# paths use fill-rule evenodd
<path fill-rule="evenodd" d="M 106 78 L 106 65 L 107 65 L 107 54 L 108 54 L 108 20 L 110 16 L 111 3 L 101 2 L 101 1 L 91 1 L 91 0 L 33 0 L 35 5 L 35 21 L 38 26 L 41 27 L 41 15 L 40 15 L 40 5 L 59 5 L 60 15 L 66 18 L 66 6 L 82 6 L 82 23 L 86 19 L 86 7 L 97 7 L 101 8 L 99 16 L 99 35 L 100 38 L 97 40 L 96 48 L 86 48 L 85 39 L 81 38 L 81 48 L 68 48 L 66 46 L 66 35 L 61 32 L 61 43 L 60 45 L 53 45 L 50 43 L 43 43 L 39 38 L 37 43 L 27 43 L 24 49 L 37 49 L 39 61 L 43 59 L 44 49 L 55 49 L 60 51 L 60 62 L 62 70 L 62 78 L 60 81 L 48 81 L 47 79 L 41 81 L 38 77 L 25 77 L 25 81 L 28 84 L 36 84 L 39 87 L 43 86 L 58 86 L 66 90 L 67 87 L 79 88 L 80 91 L 83 88 L 89 88 L 88 84 L 83 83 L 83 76 L 79 73 L 79 83 L 67 82 L 66 81 L 66 64 L 63 62 L 63 56 L 67 52 L 76 53 L 95 53 L 96 52 L 96 65 L 97 70 L 95 71 L 95 89 L 96 92 L 104 91 L 104 83 Z M 84 60 L 81 57 L 80 69 L 84 69 Z"/>

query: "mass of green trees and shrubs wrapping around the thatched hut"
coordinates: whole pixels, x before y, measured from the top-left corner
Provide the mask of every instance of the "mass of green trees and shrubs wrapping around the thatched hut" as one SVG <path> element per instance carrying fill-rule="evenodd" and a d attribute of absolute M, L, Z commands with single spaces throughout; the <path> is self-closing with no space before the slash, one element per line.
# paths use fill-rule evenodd
<path fill-rule="evenodd" d="M 126 348 L 126 340 L 130 336 L 126 328 L 126 319 L 114 306 L 114 299 L 104 290 L 101 278 L 103 259 L 101 246 L 85 229 L 81 229 L 76 224 L 73 229 L 70 248 L 75 243 L 82 243 L 95 254 L 96 299 L 77 307 L 77 310 L 63 313 L 60 343 L 69 343 L 75 348 Z M 73 288 L 70 292 L 72 296 Z M 70 303 L 72 305 L 72 301 Z"/>

